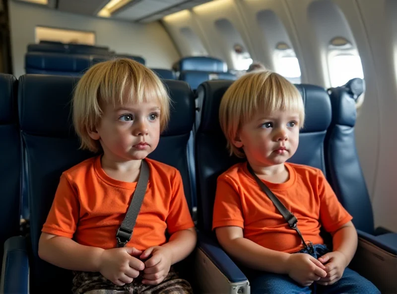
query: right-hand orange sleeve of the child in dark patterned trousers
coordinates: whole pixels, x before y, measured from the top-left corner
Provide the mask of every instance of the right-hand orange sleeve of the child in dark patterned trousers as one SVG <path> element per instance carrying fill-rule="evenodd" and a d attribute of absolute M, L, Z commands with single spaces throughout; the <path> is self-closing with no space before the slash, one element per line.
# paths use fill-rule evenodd
<path fill-rule="evenodd" d="M 172 197 L 170 209 L 167 217 L 167 230 L 173 234 L 179 230 L 192 228 L 195 223 L 190 215 L 189 206 L 185 198 L 181 173 L 176 171 L 175 176 L 171 179 Z"/>

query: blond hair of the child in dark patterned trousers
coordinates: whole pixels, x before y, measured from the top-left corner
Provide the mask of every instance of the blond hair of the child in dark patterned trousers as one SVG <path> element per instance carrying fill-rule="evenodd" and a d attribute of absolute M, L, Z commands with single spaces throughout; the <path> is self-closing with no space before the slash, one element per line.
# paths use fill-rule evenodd
<path fill-rule="evenodd" d="M 79 80 L 73 95 L 73 125 L 80 148 L 96 152 L 100 143 L 89 136 L 100 123 L 100 105 L 116 102 L 141 103 L 157 99 L 160 104 L 160 130 L 170 116 L 170 98 L 159 77 L 131 59 L 114 59 L 92 66 Z"/>

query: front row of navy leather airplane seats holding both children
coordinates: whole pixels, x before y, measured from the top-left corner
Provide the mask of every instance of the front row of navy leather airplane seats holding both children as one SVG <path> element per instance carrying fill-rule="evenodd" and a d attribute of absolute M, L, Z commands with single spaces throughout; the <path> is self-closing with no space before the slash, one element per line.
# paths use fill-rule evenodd
<path fill-rule="evenodd" d="M 0 75 L 1 246 L 6 240 L 1 293 L 49 289 L 69 293 L 71 289 L 70 271 L 41 260 L 38 240 L 61 173 L 94 155 L 78 149 L 72 128 L 70 99 L 77 81 L 78 77 L 70 76 L 26 74 L 17 80 Z M 179 266 L 190 276 L 196 293 L 250 293 L 249 281 L 211 231 L 216 179 L 239 160 L 228 155 L 218 121 L 221 97 L 233 81 L 205 81 L 199 85 L 196 99 L 186 82 L 163 82 L 174 107 L 167 131 L 149 157 L 181 172 L 191 212 L 192 195 L 197 195 L 198 203 L 197 250 Z M 326 174 L 359 231 L 360 245 L 351 267 L 382 293 L 393 293 L 397 289 L 393 279 L 397 235 L 386 231 L 377 235 L 374 229 L 354 145 L 354 100 L 339 88 L 329 95 L 318 86 L 296 86 L 302 94 L 306 120 L 300 145 L 290 161 L 320 168 Z M 189 150 L 192 142 L 193 158 Z M 29 202 L 30 231 L 18 236 L 24 198 Z M 374 268 L 381 270 L 374 273 Z"/>

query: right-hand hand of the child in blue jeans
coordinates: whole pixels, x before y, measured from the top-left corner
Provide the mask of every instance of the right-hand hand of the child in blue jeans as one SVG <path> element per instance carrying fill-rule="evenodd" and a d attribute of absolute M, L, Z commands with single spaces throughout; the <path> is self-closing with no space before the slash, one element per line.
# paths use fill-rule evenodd
<path fill-rule="evenodd" d="M 347 266 L 346 257 L 339 251 L 324 254 L 319 258 L 319 261 L 326 266 L 327 277 L 321 278 L 318 281 L 318 284 L 324 286 L 336 283 L 342 277 L 344 269 Z"/>

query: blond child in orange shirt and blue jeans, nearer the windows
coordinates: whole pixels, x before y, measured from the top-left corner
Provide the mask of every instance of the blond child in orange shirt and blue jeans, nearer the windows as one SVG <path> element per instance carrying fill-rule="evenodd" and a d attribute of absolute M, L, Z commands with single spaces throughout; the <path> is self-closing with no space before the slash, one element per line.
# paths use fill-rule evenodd
<path fill-rule="evenodd" d="M 279 74 L 248 73 L 225 92 L 220 125 L 230 154 L 247 161 L 218 178 L 217 239 L 243 266 L 251 293 L 379 293 L 347 268 L 357 232 L 322 171 L 286 162 L 298 147 L 304 117 L 299 91 Z M 304 241 L 263 192 L 261 181 L 295 215 Z M 331 233 L 332 245 L 325 244 L 322 227 Z"/>

